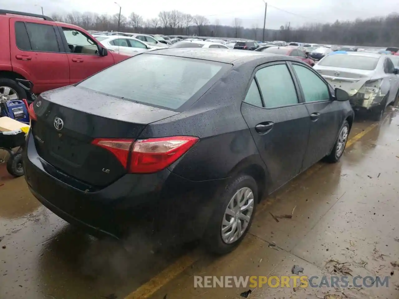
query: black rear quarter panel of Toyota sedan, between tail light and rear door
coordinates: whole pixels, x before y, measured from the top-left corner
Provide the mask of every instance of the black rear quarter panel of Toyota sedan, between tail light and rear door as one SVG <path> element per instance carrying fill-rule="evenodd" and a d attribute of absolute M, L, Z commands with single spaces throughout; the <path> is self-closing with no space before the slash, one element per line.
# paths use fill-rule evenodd
<path fill-rule="evenodd" d="M 254 67 L 255 68 L 255 67 Z M 169 167 L 192 181 L 229 177 L 237 165 L 265 164 L 241 115 L 253 69 L 246 73 L 228 71 L 187 111 L 146 126 L 141 138 L 197 136 L 199 142 Z"/>

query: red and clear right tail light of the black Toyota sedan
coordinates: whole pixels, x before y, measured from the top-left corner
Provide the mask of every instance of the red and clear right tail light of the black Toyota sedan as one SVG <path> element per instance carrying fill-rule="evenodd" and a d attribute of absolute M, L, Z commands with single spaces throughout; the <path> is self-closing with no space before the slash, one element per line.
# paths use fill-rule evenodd
<path fill-rule="evenodd" d="M 97 138 L 92 144 L 111 151 L 128 173 L 154 173 L 174 163 L 196 142 L 198 137 L 172 136 L 136 141 Z"/>

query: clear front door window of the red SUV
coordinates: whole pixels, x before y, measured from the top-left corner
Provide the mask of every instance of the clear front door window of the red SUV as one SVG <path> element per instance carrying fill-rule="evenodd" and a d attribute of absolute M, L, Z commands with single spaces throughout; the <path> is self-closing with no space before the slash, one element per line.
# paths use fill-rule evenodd
<path fill-rule="evenodd" d="M 85 33 L 72 29 L 62 28 L 71 53 L 99 55 L 97 44 Z M 110 42 L 112 44 L 112 41 Z"/>

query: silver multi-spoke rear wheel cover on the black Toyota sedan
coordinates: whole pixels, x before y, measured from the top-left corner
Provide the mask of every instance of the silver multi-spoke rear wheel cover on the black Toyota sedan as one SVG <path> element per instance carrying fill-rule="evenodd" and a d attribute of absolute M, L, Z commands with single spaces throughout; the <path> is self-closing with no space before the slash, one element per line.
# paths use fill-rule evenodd
<path fill-rule="evenodd" d="M 229 201 L 221 225 L 223 242 L 236 242 L 248 227 L 254 207 L 253 191 L 244 187 L 239 189 Z"/>

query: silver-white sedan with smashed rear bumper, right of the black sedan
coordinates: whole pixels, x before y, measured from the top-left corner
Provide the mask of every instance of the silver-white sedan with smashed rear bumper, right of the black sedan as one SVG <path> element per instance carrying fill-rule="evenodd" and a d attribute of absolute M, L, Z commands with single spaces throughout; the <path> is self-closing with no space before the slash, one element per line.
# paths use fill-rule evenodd
<path fill-rule="evenodd" d="M 365 52 L 328 55 L 314 69 L 334 88 L 350 95 L 354 110 L 369 110 L 380 120 L 399 94 L 399 69 L 387 55 Z"/>

